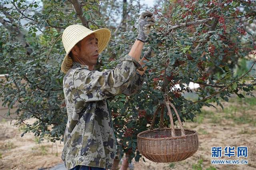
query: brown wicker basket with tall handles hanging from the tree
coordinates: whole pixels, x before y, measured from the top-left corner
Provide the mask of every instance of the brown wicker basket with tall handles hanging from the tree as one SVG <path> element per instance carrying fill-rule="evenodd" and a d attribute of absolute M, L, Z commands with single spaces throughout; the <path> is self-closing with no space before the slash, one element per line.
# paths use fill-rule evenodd
<path fill-rule="evenodd" d="M 170 106 L 174 109 L 180 128 L 175 128 Z M 164 106 L 168 109 L 171 128 L 163 128 Z M 154 130 L 154 121 L 160 109 L 160 127 Z M 153 162 L 177 162 L 192 156 L 198 149 L 198 134 L 195 130 L 184 129 L 178 112 L 169 101 L 160 104 L 152 120 L 150 130 L 140 132 L 137 135 L 139 152 Z"/>

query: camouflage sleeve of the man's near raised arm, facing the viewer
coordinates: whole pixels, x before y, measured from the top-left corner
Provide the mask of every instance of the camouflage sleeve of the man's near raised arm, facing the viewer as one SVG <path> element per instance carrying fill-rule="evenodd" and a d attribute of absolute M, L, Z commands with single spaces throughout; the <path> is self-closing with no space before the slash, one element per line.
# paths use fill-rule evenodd
<path fill-rule="evenodd" d="M 74 88 L 83 101 L 100 101 L 121 94 L 132 83 L 136 69 L 143 68 L 133 57 L 125 55 L 115 69 L 103 71 L 77 69 Z"/>

